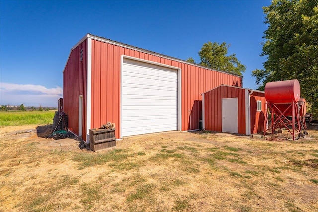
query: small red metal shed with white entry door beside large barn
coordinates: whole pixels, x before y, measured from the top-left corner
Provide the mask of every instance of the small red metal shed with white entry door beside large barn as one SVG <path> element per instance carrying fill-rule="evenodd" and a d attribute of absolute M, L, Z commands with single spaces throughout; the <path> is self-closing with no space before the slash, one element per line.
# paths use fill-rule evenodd
<path fill-rule="evenodd" d="M 203 129 L 246 135 L 264 131 L 263 91 L 220 85 L 202 96 Z"/>

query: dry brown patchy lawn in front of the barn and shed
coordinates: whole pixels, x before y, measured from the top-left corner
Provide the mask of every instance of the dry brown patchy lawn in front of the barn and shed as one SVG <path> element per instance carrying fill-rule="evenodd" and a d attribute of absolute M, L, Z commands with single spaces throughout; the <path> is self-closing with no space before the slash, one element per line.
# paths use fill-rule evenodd
<path fill-rule="evenodd" d="M 298 141 L 167 132 L 98 153 L 44 129 L 0 127 L 0 211 L 318 211 L 317 125 Z"/>

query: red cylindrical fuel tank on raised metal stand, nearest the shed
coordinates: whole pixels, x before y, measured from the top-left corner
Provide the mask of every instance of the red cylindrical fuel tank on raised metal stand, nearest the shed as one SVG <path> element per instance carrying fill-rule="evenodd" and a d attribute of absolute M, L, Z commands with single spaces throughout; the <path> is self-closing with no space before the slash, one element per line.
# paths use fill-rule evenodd
<path fill-rule="evenodd" d="M 298 102 L 300 85 L 297 79 L 268 82 L 265 85 L 265 98 L 268 103 Z"/>

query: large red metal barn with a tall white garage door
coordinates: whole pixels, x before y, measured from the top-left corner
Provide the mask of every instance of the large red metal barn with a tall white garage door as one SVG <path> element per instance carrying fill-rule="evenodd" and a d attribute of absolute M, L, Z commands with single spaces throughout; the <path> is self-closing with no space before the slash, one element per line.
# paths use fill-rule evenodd
<path fill-rule="evenodd" d="M 108 121 L 116 138 L 195 130 L 201 93 L 220 84 L 241 87 L 242 77 L 87 34 L 63 70 L 63 110 L 87 142 L 89 129 Z"/>

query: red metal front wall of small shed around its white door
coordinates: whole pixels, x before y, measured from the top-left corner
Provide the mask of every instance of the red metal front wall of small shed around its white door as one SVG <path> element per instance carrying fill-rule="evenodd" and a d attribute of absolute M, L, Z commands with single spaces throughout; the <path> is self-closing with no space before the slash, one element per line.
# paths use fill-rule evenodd
<path fill-rule="evenodd" d="M 205 129 L 222 131 L 222 99 L 238 98 L 238 132 L 246 133 L 245 89 L 220 86 L 204 93 Z"/>

